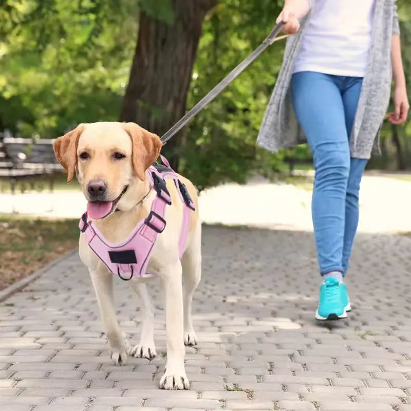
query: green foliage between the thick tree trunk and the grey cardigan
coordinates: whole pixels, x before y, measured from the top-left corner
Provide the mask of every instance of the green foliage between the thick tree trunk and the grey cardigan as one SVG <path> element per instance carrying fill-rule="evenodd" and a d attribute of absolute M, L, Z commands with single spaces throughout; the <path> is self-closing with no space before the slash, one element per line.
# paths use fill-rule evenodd
<path fill-rule="evenodd" d="M 189 108 L 266 38 L 279 10 L 272 0 L 220 0 L 203 26 Z M 259 150 L 255 140 L 283 49 L 284 43 L 274 43 L 181 132 L 180 171 L 200 189 L 226 180 L 243 183 L 251 171 L 268 173 L 281 162 L 282 154 Z"/>

